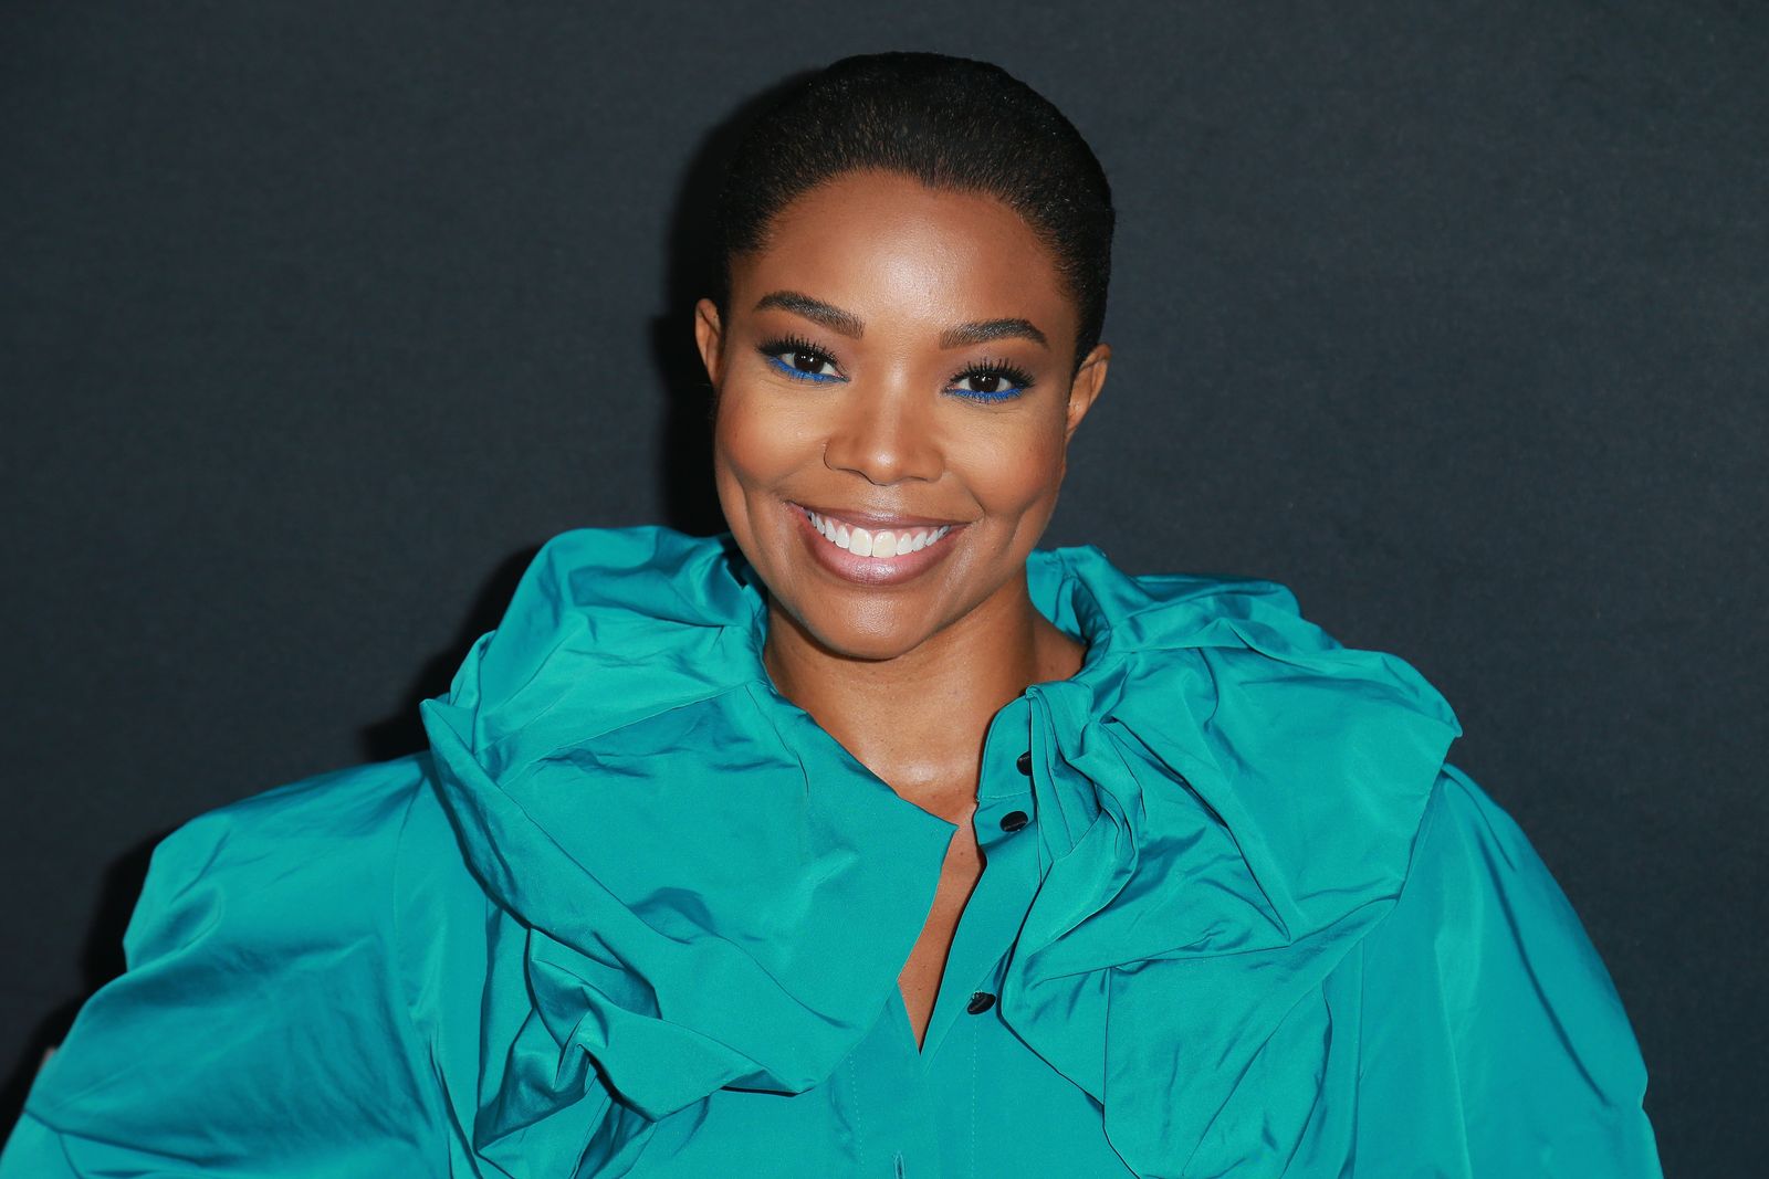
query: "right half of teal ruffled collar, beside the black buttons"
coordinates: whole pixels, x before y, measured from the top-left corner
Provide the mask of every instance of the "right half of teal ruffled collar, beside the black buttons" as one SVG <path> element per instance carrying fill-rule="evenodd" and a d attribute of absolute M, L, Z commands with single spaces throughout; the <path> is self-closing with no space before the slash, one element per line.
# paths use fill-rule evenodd
<path fill-rule="evenodd" d="M 1091 548 L 1031 585 L 1090 654 L 1031 689 L 1049 870 L 1003 1018 L 1137 1174 L 1277 1174 L 1323 1114 L 1321 983 L 1394 907 L 1461 730 L 1277 585 L 1127 578 Z"/>

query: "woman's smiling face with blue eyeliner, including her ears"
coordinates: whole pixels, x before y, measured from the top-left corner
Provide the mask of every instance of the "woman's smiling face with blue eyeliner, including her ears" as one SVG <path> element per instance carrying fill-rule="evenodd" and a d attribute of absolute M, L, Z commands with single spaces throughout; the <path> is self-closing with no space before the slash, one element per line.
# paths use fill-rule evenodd
<path fill-rule="evenodd" d="M 745 557 L 823 647 L 913 650 L 1022 601 L 1068 438 L 1109 350 L 1031 228 L 992 196 L 847 173 L 732 262 L 697 308 L 715 472 Z"/>

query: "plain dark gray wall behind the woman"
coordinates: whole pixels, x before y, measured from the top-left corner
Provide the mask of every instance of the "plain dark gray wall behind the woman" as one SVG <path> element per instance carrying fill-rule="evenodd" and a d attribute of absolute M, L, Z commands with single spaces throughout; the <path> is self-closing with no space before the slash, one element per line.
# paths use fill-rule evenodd
<path fill-rule="evenodd" d="M 1765 1149 L 1769 7 L 0 5 L 0 1068 L 196 811 L 417 748 L 575 525 L 715 527 L 731 118 L 991 57 L 1122 209 L 1051 543 L 1413 661 L 1603 951 L 1666 1167 Z"/>

